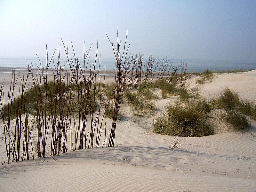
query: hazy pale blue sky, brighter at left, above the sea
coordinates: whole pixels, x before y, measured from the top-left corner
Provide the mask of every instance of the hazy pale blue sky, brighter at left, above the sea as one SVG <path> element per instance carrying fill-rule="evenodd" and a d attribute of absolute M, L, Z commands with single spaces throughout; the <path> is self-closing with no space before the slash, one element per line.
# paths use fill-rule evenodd
<path fill-rule="evenodd" d="M 44 56 L 45 44 L 52 52 L 62 38 L 78 55 L 93 43 L 91 56 L 98 40 L 101 57 L 113 58 L 105 32 L 116 41 L 117 27 L 122 40 L 128 30 L 131 54 L 256 61 L 255 0 L 0 0 L 0 56 Z"/>

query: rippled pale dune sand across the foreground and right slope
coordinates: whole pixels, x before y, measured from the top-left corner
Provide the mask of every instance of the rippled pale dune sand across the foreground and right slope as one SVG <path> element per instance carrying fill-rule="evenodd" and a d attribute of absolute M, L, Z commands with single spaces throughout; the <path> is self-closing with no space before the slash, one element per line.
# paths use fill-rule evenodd
<path fill-rule="evenodd" d="M 197 78 L 189 80 L 190 86 Z M 199 88 L 207 96 L 225 86 L 256 100 L 256 70 L 216 75 Z M 158 113 L 176 100 L 157 100 Z M 150 117 L 135 118 L 126 110 L 127 120 L 116 127 L 115 147 L 71 152 L 68 141 L 68 153 L 60 156 L 0 165 L 0 191 L 256 191 L 256 165 L 247 179 L 256 163 L 255 121 L 251 132 L 186 138 L 171 150 L 174 137 L 150 133 Z"/>

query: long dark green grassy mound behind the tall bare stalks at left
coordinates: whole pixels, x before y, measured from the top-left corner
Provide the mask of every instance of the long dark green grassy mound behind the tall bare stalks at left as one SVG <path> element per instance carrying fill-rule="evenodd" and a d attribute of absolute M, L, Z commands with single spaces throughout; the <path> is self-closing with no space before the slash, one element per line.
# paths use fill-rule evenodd
<path fill-rule="evenodd" d="M 17 97 L 15 98 L 10 104 L 9 104 L 9 109 L 8 109 L 8 104 L 6 104 L 4 106 L 4 112 L 6 113 L 5 116 L 10 115 L 11 119 L 14 119 L 16 116 L 18 115 L 22 115 L 24 114 L 25 112 L 26 113 L 30 113 L 30 114 L 33 114 L 35 115 L 35 110 L 36 110 L 36 100 L 37 98 L 43 98 L 43 95 L 45 94 L 45 85 L 42 84 L 40 85 L 41 87 L 39 87 L 39 85 L 36 86 L 36 88 L 34 86 L 32 86 L 31 88 L 29 88 L 25 94 L 23 95 L 23 98 L 21 100 L 20 97 Z M 82 85 L 81 85 L 82 87 Z M 74 84 L 71 85 L 71 88 L 72 88 L 72 91 L 75 90 L 78 90 L 77 89 L 77 86 L 75 87 Z M 37 89 L 37 92 L 36 92 L 36 89 Z M 47 109 L 46 111 L 46 115 L 50 115 L 50 111 L 51 111 L 51 108 L 54 106 L 54 110 L 56 110 L 56 115 L 59 115 L 59 112 L 60 112 L 60 104 L 61 103 L 65 103 L 64 101 L 64 98 L 59 99 L 59 96 L 57 98 L 54 99 L 54 97 L 56 96 L 56 93 L 58 94 L 63 94 L 63 93 L 66 93 L 68 92 L 68 86 L 67 85 L 64 85 L 64 84 L 60 84 L 58 85 L 57 87 L 57 84 L 56 82 L 53 82 L 53 81 L 49 81 L 47 82 L 47 89 L 48 89 L 48 95 L 49 95 L 49 98 L 47 98 L 47 101 L 45 103 L 44 100 L 42 100 L 41 102 L 43 103 L 43 107 L 41 107 L 41 113 L 42 114 L 45 114 L 45 109 Z M 38 90 L 40 90 L 38 92 Z M 111 90 L 112 91 L 112 90 Z M 36 94 L 40 94 L 41 97 L 36 97 Z M 86 98 L 84 98 L 84 101 L 82 102 L 81 98 L 78 98 L 76 96 L 76 94 L 73 95 L 74 99 L 72 99 L 72 101 L 69 103 L 69 105 L 72 106 L 72 110 L 70 110 L 70 113 L 73 115 L 73 116 L 77 116 L 78 114 L 78 111 L 79 110 L 82 110 L 81 106 L 80 108 L 78 108 L 78 102 L 80 103 L 86 103 L 86 106 L 83 106 L 83 110 L 84 110 L 84 113 L 89 113 L 89 102 L 91 103 L 94 103 L 91 107 L 92 107 L 92 111 L 95 111 L 97 107 L 99 107 L 99 103 L 97 102 L 97 100 L 93 100 L 94 98 L 98 98 L 99 97 L 99 94 L 98 92 L 94 92 L 93 89 L 91 89 L 91 97 L 88 97 L 88 98 L 91 98 L 90 101 L 85 101 Z M 94 96 L 95 94 L 95 96 Z M 112 93 L 111 93 L 112 94 Z M 78 101 L 79 100 L 79 101 Z M 22 102 L 22 104 L 20 103 Z M 65 103 L 67 104 L 67 103 Z M 17 114 L 15 112 L 15 109 L 17 109 L 18 106 L 24 106 L 21 110 L 21 114 Z M 44 107 L 46 105 L 46 108 Z M 62 107 L 64 110 L 68 110 L 68 106 L 63 106 Z M 9 110 L 9 112 L 8 112 Z"/>

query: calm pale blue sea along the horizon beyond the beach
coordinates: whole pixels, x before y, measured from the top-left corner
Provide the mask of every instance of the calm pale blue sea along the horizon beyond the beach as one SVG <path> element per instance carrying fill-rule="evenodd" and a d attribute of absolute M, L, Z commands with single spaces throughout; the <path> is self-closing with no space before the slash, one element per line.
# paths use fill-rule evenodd
<path fill-rule="evenodd" d="M 41 60 L 45 63 L 45 60 Z M 184 63 L 186 60 L 170 60 L 174 66 L 180 65 Z M 66 63 L 66 59 L 60 60 L 61 65 Z M 89 61 L 89 65 L 92 66 L 93 60 Z M 37 58 L 21 58 L 21 57 L 0 57 L 0 67 L 27 67 L 27 65 L 31 64 L 33 67 L 36 67 L 36 64 L 39 64 L 39 60 Z M 245 61 L 224 61 L 224 60 L 187 60 L 188 72 L 198 71 L 202 72 L 205 69 L 210 70 L 231 70 L 231 69 L 256 69 L 256 62 L 245 62 Z M 68 65 L 66 65 L 68 67 Z M 100 68 L 104 69 L 106 66 L 106 70 L 114 70 L 115 61 L 111 60 L 101 60 Z M 51 66 L 53 67 L 53 65 Z"/>

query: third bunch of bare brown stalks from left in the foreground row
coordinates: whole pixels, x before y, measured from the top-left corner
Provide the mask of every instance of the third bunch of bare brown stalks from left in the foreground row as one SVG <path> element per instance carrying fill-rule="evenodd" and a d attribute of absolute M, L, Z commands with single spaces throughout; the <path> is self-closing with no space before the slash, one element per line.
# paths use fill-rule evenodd
<path fill-rule="evenodd" d="M 54 62 L 53 62 L 54 63 Z M 48 94 L 48 107 L 51 114 L 52 141 L 51 155 L 60 155 L 66 152 L 68 127 L 71 127 L 72 114 L 72 82 L 73 76 L 68 76 L 68 70 L 60 65 L 58 51 L 57 65 L 52 69 L 54 75 L 53 90 Z M 70 72 L 70 70 L 69 70 Z"/>

